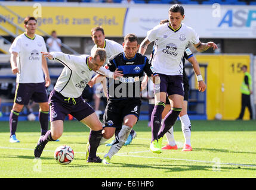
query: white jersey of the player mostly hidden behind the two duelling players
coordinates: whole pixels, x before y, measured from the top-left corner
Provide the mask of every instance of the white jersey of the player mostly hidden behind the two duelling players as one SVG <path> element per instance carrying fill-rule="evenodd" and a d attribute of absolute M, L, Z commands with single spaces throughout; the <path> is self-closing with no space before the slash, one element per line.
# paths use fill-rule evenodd
<path fill-rule="evenodd" d="M 91 54 L 96 48 L 97 48 L 97 45 L 92 47 Z M 107 64 L 107 62 L 109 61 L 109 58 L 112 55 L 116 55 L 118 53 L 124 52 L 124 48 L 122 47 L 121 44 L 119 44 L 113 40 L 108 40 L 108 39 L 105 39 L 105 45 L 103 48 L 106 50 L 106 53 L 107 53 L 107 59 L 106 59 L 105 64 Z"/>

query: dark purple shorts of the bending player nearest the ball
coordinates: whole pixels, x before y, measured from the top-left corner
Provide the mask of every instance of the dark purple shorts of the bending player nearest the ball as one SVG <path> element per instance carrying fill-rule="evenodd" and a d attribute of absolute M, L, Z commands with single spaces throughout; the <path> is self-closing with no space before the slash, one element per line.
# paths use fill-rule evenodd
<path fill-rule="evenodd" d="M 50 105 L 51 122 L 56 120 L 64 121 L 69 114 L 81 121 L 94 113 L 92 107 L 82 99 L 82 96 L 68 100 L 67 97 L 62 96 L 55 90 L 51 91 L 48 103 Z"/>

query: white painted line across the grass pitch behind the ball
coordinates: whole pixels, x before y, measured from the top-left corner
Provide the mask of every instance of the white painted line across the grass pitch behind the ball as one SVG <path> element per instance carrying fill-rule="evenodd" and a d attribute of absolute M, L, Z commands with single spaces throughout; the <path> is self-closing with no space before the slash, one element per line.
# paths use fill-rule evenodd
<path fill-rule="evenodd" d="M 0 147 L 2 149 L 13 149 L 13 150 L 33 150 L 32 148 L 15 148 L 15 147 Z M 47 152 L 54 152 L 53 150 L 44 150 Z M 144 152 L 149 152 L 147 151 L 138 151 L 138 152 L 133 152 L 134 153 L 144 153 Z M 78 154 L 86 154 L 84 152 L 75 152 Z M 99 154 L 104 154 L 104 153 L 99 153 Z M 210 162 L 210 161 L 205 161 L 205 160 L 188 160 L 188 159 L 172 159 L 172 158 L 165 158 L 165 157 L 150 157 L 150 156 L 135 156 L 135 155 L 130 155 L 132 153 L 119 153 L 116 154 L 116 156 L 125 156 L 125 157 L 139 157 L 143 159 L 161 159 L 161 160 L 176 160 L 176 161 L 185 161 L 185 162 L 197 162 L 197 163 L 210 163 L 210 164 L 221 164 L 221 165 L 230 165 L 230 166 L 246 166 L 246 167 L 256 167 L 256 165 L 249 165 L 249 164 L 236 164 L 236 163 L 216 163 L 216 162 Z"/>

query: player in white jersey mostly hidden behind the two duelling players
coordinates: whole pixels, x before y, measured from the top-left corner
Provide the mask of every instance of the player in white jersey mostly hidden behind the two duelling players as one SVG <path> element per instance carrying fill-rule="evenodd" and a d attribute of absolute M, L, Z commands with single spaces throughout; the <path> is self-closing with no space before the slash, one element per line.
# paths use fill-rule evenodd
<path fill-rule="evenodd" d="M 95 45 L 92 47 L 91 49 L 91 52 L 93 52 L 95 50 L 95 48 L 97 47 L 101 47 L 101 48 L 104 48 L 107 52 L 107 60 L 105 62 L 105 64 L 107 64 L 107 62 L 109 61 L 110 57 L 113 56 L 113 55 L 116 55 L 118 53 L 121 53 L 121 52 L 124 52 L 124 49 L 122 47 L 121 44 L 113 41 L 113 40 L 108 40 L 105 38 L 105 33 L 104 33 L 104 29 L 102 27 L 95 27 L 93 29 L 91 29 L 91 38 L 92 38 L 92 41 L 95 43 Z M 98 78 L 98 75 L 97 74 L 95 76 L 95 78 Z M 104 94 L 107 95 L 107 89 L 104 89 L 104 87 L 106 87 L 106 78 L 102 78 L 103 79 L 101 81 L 102 83 L 102 86 L 98 86 L 97 84 L 94 86 L 94 88 L 102 88 L 103 87 L 103 90 L 104 90 Z M 99 82 L 99 81 L 98 81 Z M 98 110 L 98 107 L 100 105 L 100 96 L 97 96 L 97 91 L 95 92 L 94 94 L 94 99 L 95 99 L 95 112 L 97 112 Z M 121 130 L 121 128 L 116 128 L 116 131 L 115 131 L 115 134 L 117 135 L 119 133 L 119 131 Z M 128 145 L 128 144 L 131 144 L 132 140 L 136 137 L 136 132 L 134 131 L 134 129 L 131 130 L 128 138 L 127 138 L 127 141 L 125 141 L 125 144 L 124 145 Z M 114 143 L 115 140 L 112 141 L 112 143 L 109 143 L 109 144 L 106 144 L 106 145 L 112 145 Z"/>

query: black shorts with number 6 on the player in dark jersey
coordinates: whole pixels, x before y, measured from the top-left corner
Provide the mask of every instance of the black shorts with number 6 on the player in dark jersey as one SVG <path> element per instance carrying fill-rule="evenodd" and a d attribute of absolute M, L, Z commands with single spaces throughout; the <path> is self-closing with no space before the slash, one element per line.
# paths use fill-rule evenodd
<path fill-rule="evenodd" d="M 127 115 L 140 117 L 140 99 L 109 100 L 103 116 L 103 127 L 119 128 Z"/>

